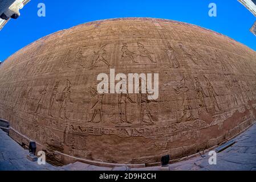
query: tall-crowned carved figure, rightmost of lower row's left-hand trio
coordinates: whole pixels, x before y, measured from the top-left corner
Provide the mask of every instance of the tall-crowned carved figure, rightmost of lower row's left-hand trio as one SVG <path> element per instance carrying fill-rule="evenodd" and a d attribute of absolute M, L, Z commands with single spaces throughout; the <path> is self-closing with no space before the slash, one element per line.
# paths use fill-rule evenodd
<path fill-rule="evenodd" d="M 62 118 L 62 111 L 64 113 L 64 119 L 67 118 L 67 102 L 73 102 L 70 97 L 71 94 L 71 82 L 67 80 L 67 86 L 64 88 L 62 92 L 62 97 L 60 98 L 60 109 L 59 109 L 59 117 Z M 62 118 L 63 119 L 63 118 Z"/>

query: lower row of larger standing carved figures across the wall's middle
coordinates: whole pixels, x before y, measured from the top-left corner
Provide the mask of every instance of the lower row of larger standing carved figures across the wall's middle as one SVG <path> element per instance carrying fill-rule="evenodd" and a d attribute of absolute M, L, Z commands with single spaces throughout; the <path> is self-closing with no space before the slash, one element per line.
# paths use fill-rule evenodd
<path fill-rule="evenodd" d="M 221 110 L 225 110 L 220 106 L 218 103 L 217 97 L 219 94 L 216 92 L 214 89 L 212 83 L 209 81 L 209 79 L 204 76 L 205 81 L 206 81 L 206 90 L 207 92 L 204 91 L 202 88 L 201 82 L 198 80 L 198 77 L 194 77 L 193 83 L 194 83 L 194 92 L 197 93 L 197 99 L 198 99 L 198 105 L 205 109 L 206 112 L 209 111 L 209 107 L 213 109 L 213 111 L 218 112 Z M 226 88 L 230 90 L 231 93 L 231 99 L 233 100 L 233 106 L 237 106 L 240 104 L 246 104 L 247 101 L 253 100 L 254 99 L 254 93 L 249 90 L 243 92 L 244 90 L 241 88 L 239 85 L 237 79 L 229 80 L 228 77 L 226 77 Z M 195 119 L 194 113 L 192 111 L 192 106 L 191 106 L 191 100 L 189 99 L 189 92 L 190 89 L 188 86 L 186 86 L 186 79 L 182 78 L 180 81 L 180 84 L 178 86 L 173 86 L 169 84 L 165 84 L 164 86 L 168 86 L 171 90 L 173 90 L 177 95 L 182 97 L 182 105 L 181 105 L 181 115 L 179 118 L 177 118 L 177 122 L 181 121 L 190 121 L 192 119 Z M 44 86 L 43 89 L 39 90 L 39 94 L 37 94 L 38 101 L 36 102 L 36 107 L 34 110 L 35 114 L 40 114 L 42 113 L 41 110 L 44 105 L 44 100 L 46 97 L 47 93 L 47 87 Z M 1 97 L 2 101 L 6 100 L 6 97 L 9 95 L 7 94 L 8 92 L 3 91 L 4 89 L 1 89 Z M 87 123 L 98 123 L 98 122 L 103 122 L 103 98 L 105 97 L 105 94 L 100 94 L 97 92 L 95 88 L 88 88 L 88 92 L 90 93 L 90 96 L 92 98 L 96 98 L 96 102 L 94 105 L 90 108 L 93 111 L 92 117 Z M 250 92 L 250 93 L 249 93 Z M 26 85 L 26 89 L 22 90 L 20 94 L 18 94 L 18 97 L 15 101 L 15 104 L 13 108 L 17 107 L 18 104 L 23 103 L 24 110 L 29 111 L 30 110 L 30 100 L 31 96 L 33 93 L 33 86 L 29 88 L 29 85 Z M 71 82 L 70 80 L 66 80 L 66 87 L 62 90 L 61 92 L 61 97 L 58 98 L 59 95 L 59 81 L 55 82 L 54 87 L 51 90 L 51 96 L 50 96 L 50 101 L 48 102 L 48 116 L 54 117 L 52 114 L 53 111 L 53 106 L 55 104 L 55 101 L 59 102 L 59 109 L 58 109 L 58 115 L 59 118 L 62 119 L 68 119 L 67 117 L 67 106 L 68 102 L 73 103 L 71 99 Z M 3 98 L 5 97 L 5 98 Z M 209 98 L 211 105 L 206 105 L 206 98 Z M 132 100 L 132 98 L 129 96 L 128 93 L 121 93 L 118 96 L 118 108 L 119 108 L 119 114 L 120 114 L 120 123 L 126 123 L 126 124 L 131 124 L 131 121 L 129 121 L 127 117 L 127 108 L 130 107 L 130 104 L 135 104 L 139 107 L 139 122 L 140 124 L 147 124 L 147 125 L 153 125 L 155 124 L 155 119 L 153 119 L 152 115 L 152 110 L 151 108 L 151 100 L 148 100 L 148 95 L 147 94 L 142 94 L 139 93 L 137 94 L 136 100 Z M 160 99 L 153 101 L 153 102 L 161 102 Z M 133 107 L 133 106 L 132 106 Z M 64 115 L 64 117 L 62 117 Z M 96 116 L 99 116 L 99 120 L 95 119 Z M 148 117 L 148 119 L 144 119 L 144 117 Z M 97 120 L 97 121 L 96 121 Z"/>

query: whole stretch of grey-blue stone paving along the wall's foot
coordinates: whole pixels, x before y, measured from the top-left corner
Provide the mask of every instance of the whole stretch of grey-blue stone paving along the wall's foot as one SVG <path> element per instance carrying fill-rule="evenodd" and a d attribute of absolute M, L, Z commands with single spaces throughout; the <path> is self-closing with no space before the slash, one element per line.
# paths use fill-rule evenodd
<path fill-rule="evenodd" d="M 28 151 L 23 149 L 0 130 L 0 171 L 3 170 L 112 170 L 84 163 L 74 163 L 62 167 L 51 164 L 39 166 L 26 158 Z M 217 154 L 217 165 L 210 165 L 210 156 L 204 154 L 197 158 L 169 165 L 169 170 L 253 170 L 256 171 L 256 125 L 234 139 L 233 146 Z M 124 168 L 117 168 L 124 169 Z M 165 168 L 166 169 L 166 168 Z M 167 168 L 168 169 L 168 168 Z M 161 170 L 161 167 L 132 168 L 131 170 Z"/>

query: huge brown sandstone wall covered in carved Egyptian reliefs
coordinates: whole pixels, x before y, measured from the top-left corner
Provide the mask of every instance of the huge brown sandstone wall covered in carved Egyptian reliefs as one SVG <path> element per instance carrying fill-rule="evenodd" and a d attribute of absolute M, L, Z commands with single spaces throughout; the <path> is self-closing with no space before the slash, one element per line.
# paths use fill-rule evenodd
<path fill-rule="evenodd" d="M 13 138 L 36 140 L 61 163 L 66 156 L 130 164 L 180 158 L 255 121 L 255 57 L 241 43 L 191 24 L 86 23 L 39 39 L 1 65 L 0 117 L 10 121 Z M 97 94 L 96 77 L 109 68 L 160 73 L 159 99 Z"/>

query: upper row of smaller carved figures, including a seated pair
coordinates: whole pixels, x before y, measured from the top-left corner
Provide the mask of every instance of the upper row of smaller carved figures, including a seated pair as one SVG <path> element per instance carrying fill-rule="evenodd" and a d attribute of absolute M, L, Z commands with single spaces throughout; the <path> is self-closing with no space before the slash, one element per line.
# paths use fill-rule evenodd
<path fill-rule="evenodd" d="M 95 69 L 99 63 L 103 63 L 107 66 L 107 68 L 110 67 L 109 61 L 106 59 L 106 53 L 105 47 L 107 44 L 104 44 L 100 47 L 98 51 L 94 51 L 95 59 L 91 61 L 90 70 Z M 177 52 L 182 52 L 186 59 L 192 60 L 192 63 L 194 65 L 199 65 L 201 62 L 203 62 L 205 65 L 209 65 L 208 61 L 206 60 L 204 56 L 201 55 L 196 49 L 191 48 L 190 51 L 188 51 L 181 43 L 178 44 L 178 49 L 173 48 L 170 43 L 168 43 L 168 46 L 163 49 L 165 52 L 166 57 L 169 61 L 169 67 L 170 68 L 180 68 L 181 64 L 178 61 L 178 54 Z M 136 64 L 139 63 L 136 59 L 136 56 L 144 57 L 151 61 L 151 63 L 157 63 L 155 53 L 148 51 L 147 48 L 140 42 L 137 42 L 137 50 L 138 53 L 132 52 L 127 43 L 123 43 L 123 46 L 121 47 L 121 59 L 129 59 L 132 61 L 132 63 Z M 69 49 L 67 51 L 67 54 L 64 58 L 64 64 L 66 64 L 67 68 L 71 68 L 71 63 L 74 63 L 74 61 L 77 61 L 77 63 L 80 65 L 80 67 L 85 67 L 84 65 L 84 59 L 86 59 L 87 56 L 83 55 L 82 49 L 80 48 L 78 52 L 76 52 L 75 57 L 72 56 L 72 49 Z M 216 57 L 212 58 L 213 60 L 217 61 L 221 65 L 221 68 L 225 70 L 225 61 L 222 56 L 218 55 L 218 51 L 216 50 Z"/>

